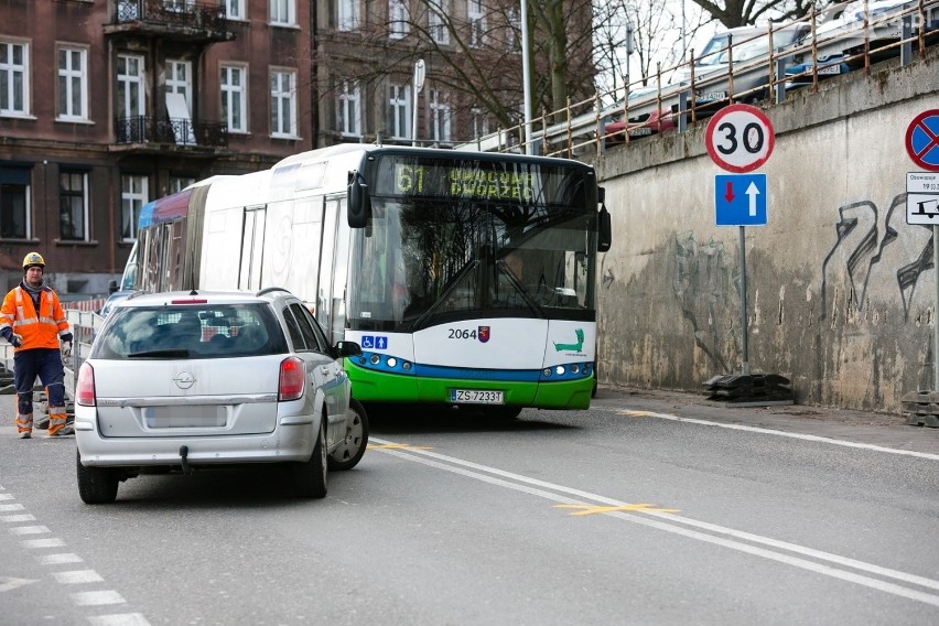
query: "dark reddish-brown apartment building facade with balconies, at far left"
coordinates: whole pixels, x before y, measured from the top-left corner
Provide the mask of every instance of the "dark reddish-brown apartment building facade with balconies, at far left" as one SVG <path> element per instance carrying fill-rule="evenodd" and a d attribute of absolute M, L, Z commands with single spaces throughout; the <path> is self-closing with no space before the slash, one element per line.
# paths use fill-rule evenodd
<path fill-rule="evenodd" d="M 0 0 L 0 285 L 100 294 L 149 201 L 312 145 L 304 0 Z M 224 260 L 220 260 L 224 262 Z"/>

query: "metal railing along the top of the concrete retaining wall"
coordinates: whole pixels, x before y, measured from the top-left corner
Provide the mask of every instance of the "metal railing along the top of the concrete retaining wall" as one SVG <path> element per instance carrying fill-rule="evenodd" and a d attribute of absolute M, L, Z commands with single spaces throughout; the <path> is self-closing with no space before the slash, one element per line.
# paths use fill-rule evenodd
<path fill-rule="evenodd" d="M 773 24 L 740 41 L 728 37 L 727 47 L 713 53 L 726 57 L 725 71 L 701 72 L 711 55 L 695 58 L 691 51 L 688 63 L 657 66 L 654 75 L 625 88 L 542 112 L 531 120 L 535 130 L 530 138 L 526 139 L 525 125 L 520 123 L 456 148 L 525 152 L 530 147 L 532 153 L 549 156 L 600 155 L 608 145 L 630 143 L 630 136 L 682 132 L 689 123 L 706 119 L 731 102 L 778 104 L 792 89 L 817 89 L 819 82 L 831 75 L 867 71 L 872 62 L 888 57 L 898 56 L 907 65 L 915 53 L 924 57 L 926 47 L 939 40 L 939 0 L 910 0 L 876 14 L 855 8 L 860 19 L 849 19 L 852 15 L 820 21 L 830 11 L 813 11 L 800 22 Z M 778 33 L 800 23 L 807 31 L 801 40 L 774 45 Z M 735 61 L 735 51 L 753 46 L 764 36 L 768 42 L 766 54 Z M 674 76 L 687 78 L 669 82 Z"/>

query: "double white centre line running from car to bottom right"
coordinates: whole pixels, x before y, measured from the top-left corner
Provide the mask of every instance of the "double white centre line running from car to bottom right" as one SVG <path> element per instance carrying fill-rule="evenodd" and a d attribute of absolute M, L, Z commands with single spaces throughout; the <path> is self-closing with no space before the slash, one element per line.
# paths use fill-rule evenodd
<path fill-rule="evenodd" d="M 379 445 L 399 445 L 396 442 L 391 442 L 388 440 L 381 440 L 377 438 L 370 438 L 371 443 L 377 443 Z M 392 456 L 398 456 L 400 458 L 404 458 L 407 461 L 421 463 L 423 465 L 430 465 L 432 467 L 436 467 L 440 470 L 444 470 L 446 472 L 452 472 L 454 474 L 460 474 L 462 476 L 467 476 L 470 478 L 474 478 L 477 481 L 482 481 L 484 483 L 489 483 L 493 485 L 499 485 L 509 489 L 514 489 L 517 492 L 522 492 L 526 494 L 530 494 L 533 496 L 538 496 L 544 499 L 563 503 L 563 504 L 575 504 L 575 505 L 584 505 L 589 503 L 580 501 L 580 500 L 571 500 L 569 497 L 559 495 L 559 494 L 569 494 L 572 496 L 578 496 L 580 498 L 584 498 L 586 500 L 593 503 L 601 503 L 608 506 L 629 506 L 630 503 L 624 503 L 619 500 L 615 500 L 613 498 L 607 498 L 605 496 L 600 496 L 597 494 L 591 494 L 589 492 L 583 492 L 580 489 L 573 489 L 570 487 L 564 487 L 562 485 L 555 485 L 553 483 L 547 483 L 544 481 L 539 481 L 537 478 L 529 478 L 527 476 L 522 476 L 520 474 L 514 474 L 511 472 L 505 472 L 503 470 L 497 470 L 495 467 L 489 467 L 486 465 L 481 465 L 477 463 L 473 463 L 470 461 L 463 461 L 460 458 L 455 458 L 452 456 L 446 456 L 443 454 L 438 454 L 435 452 L 430 452 L 427 450 L 419 449 L 389 449 L 382 450 L 380 447 L 375 449 L 377 452 L 382 452 L 385 454 L 389 454 Z M 465 467 L 465 468 L 464 468 Z M 481 473 L 482 472 L 482 473 Z M 497 477 L 498 476 L 498 477 Z M 529 486 L 532 485 L 532 486 Z M 538 488 L 542 487 L 542 488 Z M 546 490 L 550 489 L 550 490 Z M 557 493 L 552 493 L 557 492 Z M 939 590 L 939 581 L 927 579 L 924 576 L 917 576 L 914 574 L 909 574 L 906 572 L 900 572 L 897 570 L 892 570 L 889 568 L 882 568 L 879 565 L 874 565 L 872 563 L 865 563 L 864 561 L 857 561 L 855 559 L 848 559 L 844 557 L 840 557 L 838 554 L 832 554 L 829 552 L 823 552 L 821 550 L 813 550 L 811 548 L 806 548 L 803 546 L 798 546 L 796 543 L 789 543 L 787 541 L 778 541 L 776 539 L 771 539 L 768 537 L 762 537 L 758 535 L 753 535 L 749 532 L 742 532 L 738 530 L 734 530 L 732 528 L 725 528 L 722 526 L 702 522 L 694 519 L 663 514 L 663 512 L 644 512 L 644 515 L 637 514 L 626 514 L 622 511 L 609 511 L 601 515 L 607 515 L 612 517 L 616 517 L 623 520 L 632 521 L 635 524 L 639 524 L 643 526 L 648 526 L 651 528 L 656 528 L 658 530 L 665 530 L 667 532 L 672 532 L 676 535 L 681 535 L 684 537 L 689 537 L 692 539 L 698 539 L 700 541 L 706 541 L 709 543 L 715 543 L 719 546 L 723 546 L 725 548 L 730 548 L 733 550 L 737 550 L 741 552 L 746 552 L 749 554 L 754 554 L 757 557 L 763 557 L 766 559 L 770 559 L 774 561 L 787 563 L 790 565 L 795 565 L 805 570 L 809 570 L 816 573 L 824 574 L 828 576 L 832 576 L 835 579 L 844 580 L 848 582 L 853 582 L 856 584 L 861 584 L 867 586 L 870 589 L 875 589 L 878 591 L 883 591 L 886 593 L 892 593 L 894 595 L 898 595 L 902 597 L 907 597 L 909 600 L 916 600 L 919 602 L 924 602 L 926 604 L 931 604 L 933 606 L 939 606 L 939 595 L 926 593 L 917 590 L 910 590 L 908 587 L 900 586 L 898 584 L 881 581 L 877 579 L 872 579 L 862 574 L 856 574 L 854 572 L 846 572 L 844 570 L 839 570 L 832 568 L 830 565 L 825 565 L 822 563 L 817 563 L 814 561 L 808 561 L 806 559 L 801 559 L 799 557 L 794 557 L 791 554 L 784 554 L 781 552 L 775 552 L 767 548 L 760 548 L 758 546 L 752 546 L 749 543 L 744 543 L 743 541 L 749 541 L 754 543 L 762 543 L 769 548 L 775 548 L 779 550 L 787 550 L 789 552 L 795 552 L 798 554 L 802 554 L 806 557 L 811 557 L 818 560 L 829 561 L 831 563 L 835 563 L 843 566 L 850 566 L 856 570 L 861 570 L 862 572 L 868 574 L 881 575 L 885 578 L 892 578 L 894 580 L 916 584 L 919 586 L 924 586 L 927 589 Z M 657 519 L 649 519 L 651 516 Z M 705 532 L 701 532 L 699 530 L 691 530 L 689 528 L 684 528 L 679 525 L 688 525 L 692 527 L 697 527 L 702 530 L 708 530 L 710 532 L 725 535 L 731 537 L 732 539 L 726 539 L 724 537 L 715 537 L 713 535 L 708 535 Z"/>

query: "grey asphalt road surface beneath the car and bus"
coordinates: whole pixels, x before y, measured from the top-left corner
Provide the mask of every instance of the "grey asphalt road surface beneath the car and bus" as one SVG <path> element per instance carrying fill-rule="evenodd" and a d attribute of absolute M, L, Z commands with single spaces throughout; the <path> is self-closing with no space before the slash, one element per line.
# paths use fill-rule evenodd
<path fill-rule="evenodd" d="M 374 414 L 324 500 L 259 468 L 87 506 L 74 439 L 20 441 L 11 409 L 3 624 L 939 623 L 939 429 L 898 417 L 602 389 Z"/>

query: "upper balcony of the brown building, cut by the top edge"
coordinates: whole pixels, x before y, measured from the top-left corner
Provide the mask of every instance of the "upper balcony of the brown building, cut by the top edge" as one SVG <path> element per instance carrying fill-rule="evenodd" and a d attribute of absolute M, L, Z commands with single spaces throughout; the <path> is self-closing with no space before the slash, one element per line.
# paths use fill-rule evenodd
<path fill-rule="evenodd" d="M 183 42 L 231 41 L 225 7 L 193 0 L 118 0 L 106 35 L 143 35 Z"/>

